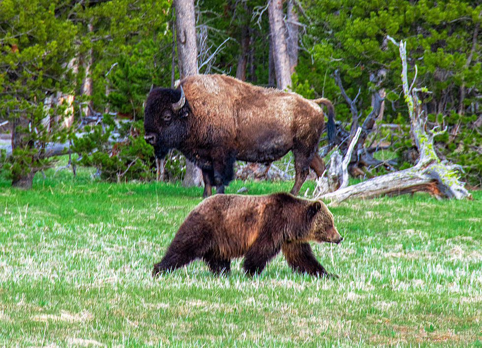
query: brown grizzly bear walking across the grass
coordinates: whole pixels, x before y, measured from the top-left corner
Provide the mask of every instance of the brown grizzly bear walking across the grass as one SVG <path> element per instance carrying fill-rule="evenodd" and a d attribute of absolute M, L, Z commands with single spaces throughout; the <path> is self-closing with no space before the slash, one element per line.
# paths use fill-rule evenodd
<path fill-rule="evenodd" d="M 196 259 L 205 261 L 215 275 L 228 274 L 231 259 L 242 256 L 245 273 L 253 276 L 281 250 L 295 272 L 336 278 L 316 260 L 308 241 L 342 240 L 322 201 L 288 193 L 217 194 L 187 215 L 164 258 L 154 264 L 152 277 Z"/>

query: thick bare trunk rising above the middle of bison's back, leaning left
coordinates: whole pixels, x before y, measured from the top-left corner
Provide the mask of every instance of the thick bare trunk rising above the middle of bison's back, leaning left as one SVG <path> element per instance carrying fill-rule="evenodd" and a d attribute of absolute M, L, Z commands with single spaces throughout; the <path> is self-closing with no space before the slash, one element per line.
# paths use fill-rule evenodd
<path fill-rule="evenodd" d="M 276 85 L 279 89 L 291 86 L 290 59 L 286 50 L 286 35 L 283 22 L 282 0 L 268 0 L 268 17 L 270 33 L 273 43 L 274 70 L 276 72 Z"/>

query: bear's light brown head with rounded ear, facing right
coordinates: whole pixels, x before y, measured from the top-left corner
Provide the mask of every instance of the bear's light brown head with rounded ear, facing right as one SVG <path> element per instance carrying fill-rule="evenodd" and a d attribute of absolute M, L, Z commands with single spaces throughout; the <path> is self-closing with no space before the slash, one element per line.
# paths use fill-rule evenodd
<path fill-rule="evenodd" d="M 306 217 L 308 219 L 307 239 L 336 244 L 343 240 L 334 225 L 333 214 L 322 201 L 311 202 L 308 205 Z"/>

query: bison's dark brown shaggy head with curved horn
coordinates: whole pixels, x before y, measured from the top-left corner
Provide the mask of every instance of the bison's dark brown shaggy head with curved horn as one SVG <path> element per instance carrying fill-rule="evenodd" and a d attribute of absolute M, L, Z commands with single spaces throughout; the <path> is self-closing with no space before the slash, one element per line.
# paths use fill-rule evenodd
<path fill-rule="evenodd" d="M 154 154 L 164 158 L 186 138 L 189 104 L 182 87 L 153 88 L 144 108 L 144 139 L 154 146 Z"/>

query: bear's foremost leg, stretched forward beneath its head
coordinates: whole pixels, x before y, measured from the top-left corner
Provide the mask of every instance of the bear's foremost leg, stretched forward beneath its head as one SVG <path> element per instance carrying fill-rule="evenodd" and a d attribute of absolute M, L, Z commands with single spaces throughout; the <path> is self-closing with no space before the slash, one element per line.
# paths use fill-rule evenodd
<path fill-rule="evenodd" d="M 299 273 L 308 273 L 316 277 L 334 277 L 316 260 L 313 250 L 308 243 L 284 243 L 281 246 L 283 255 L 290 267 Z"/>

